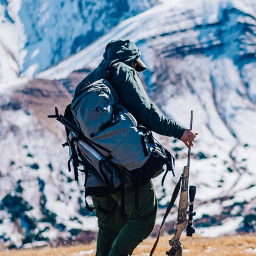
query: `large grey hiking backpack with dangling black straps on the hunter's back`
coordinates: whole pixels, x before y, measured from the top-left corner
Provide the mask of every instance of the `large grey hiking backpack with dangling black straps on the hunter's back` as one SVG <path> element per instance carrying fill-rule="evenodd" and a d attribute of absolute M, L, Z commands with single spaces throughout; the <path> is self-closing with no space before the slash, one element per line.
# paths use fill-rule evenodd
<path fill-rule="evenodd" d="M 93 208 L 87 204 L 87 196 L 121 190 L 125 218 L 124 188 L 135 184 L 138 208 L 137 187 L 166 170 L 163 185 L 167 172 L 174 174 L 174 157 L 123 107 L 108 76 L 105 78 L 85 87 L 66 107 L 64 118 L 69 121 L 69 127 L 65 126 L 71 153 L 68 165 L 70 171 L 73 162 L 76 180 L 79 166 L 85 172 L 88 210 Z"/>

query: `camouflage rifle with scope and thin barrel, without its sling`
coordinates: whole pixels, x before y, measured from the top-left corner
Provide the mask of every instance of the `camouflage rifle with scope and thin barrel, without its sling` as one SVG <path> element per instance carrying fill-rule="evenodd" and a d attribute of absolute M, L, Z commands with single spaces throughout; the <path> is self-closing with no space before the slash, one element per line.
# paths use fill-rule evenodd
<path fill-rule="evenodd" d="M 191 111 L 190 116 L 190 130 L 192 130 L 193 126 L 193 111 Z M 190 156 L 191 156 L 191 148 L 188 149 L 188 165 L 184 166 L 183 174 L 182 174 L 182 188 L 180 191 L 180 201 L 178 208 L 178 218 L 177 221 L 174 222 L 174 228 L 176 228 L 176 232 L 171 240 L 169 240 L 169 244 L 171 249 L 166 252 L 166 255 L 170 256 L 182 256 L 182 243 L 180 243 L 180 236 L 182 235 L 183 230 L 187 226 L 187 235 L 192 236 L 194 233 L 193 227 L 193 216 L 196 214 L 193 212 L 193 202 L 194 196 L 196 194 L 196 186 L 190 187 L 190 209 L 188 211 L 188 179 L 190 174 Z M 189 218 L 187 219 L 187 215 Z"/>

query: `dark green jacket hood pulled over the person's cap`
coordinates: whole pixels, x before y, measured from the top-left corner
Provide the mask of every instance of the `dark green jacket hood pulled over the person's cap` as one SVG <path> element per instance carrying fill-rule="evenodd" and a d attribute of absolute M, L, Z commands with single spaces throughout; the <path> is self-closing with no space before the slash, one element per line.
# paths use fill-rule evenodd
<path fill-rule="evenodd" d="M 140 50 L 135 43 L 132 43 L 130 40 L 112 40 L 107 44 L 103 54 L 104 59 L 99 65 L 107 68 L 112 62 L 123 62 L 133 67 L 133 62 L 140 57 L 140 55 Z"/>

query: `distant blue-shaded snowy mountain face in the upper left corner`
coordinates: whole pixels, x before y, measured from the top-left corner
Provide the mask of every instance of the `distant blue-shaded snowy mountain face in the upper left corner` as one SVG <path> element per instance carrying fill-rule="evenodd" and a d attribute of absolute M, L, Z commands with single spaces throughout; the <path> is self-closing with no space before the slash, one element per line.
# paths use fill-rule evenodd
<path fill-rule="evenodd" d="M 157 0 L 2 0 L 0 80 L 32 76 Z"/>

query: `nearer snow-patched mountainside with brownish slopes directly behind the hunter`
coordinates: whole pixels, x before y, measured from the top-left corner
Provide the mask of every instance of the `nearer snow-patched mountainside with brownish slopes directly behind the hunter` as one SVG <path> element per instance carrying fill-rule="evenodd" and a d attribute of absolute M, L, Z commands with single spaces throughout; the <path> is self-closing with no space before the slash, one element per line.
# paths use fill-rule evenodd
<path fill-rule="evenodd" d="M 2 82 L 0 240 L 17 245 L 71 240 L 82 230 L 96 230 L 96 218 L 84 216 L 82 179 L 78 186 L 66 172 L 63 129 L 46 115 L 55 105 L 63 113 L 77 82 L 116 38 L 139 46 L 149 67 L 141 78 L 163 113 L 188 127 L 194 110 L 199 135 L 190 183 L 197 185 L 197 233 L 255 230 L 255 25 L 255 0 L 164 1 L 122 21 L 37 79 Z M 162 215 L 187 164 L 187 149 L 180 141 L 158 138 L 177 158 L 175 179 L 169 175 L 165 188 L 161 177 L 154 180 Z M 175 218 L 172 211 L 166 231 Z"/>

